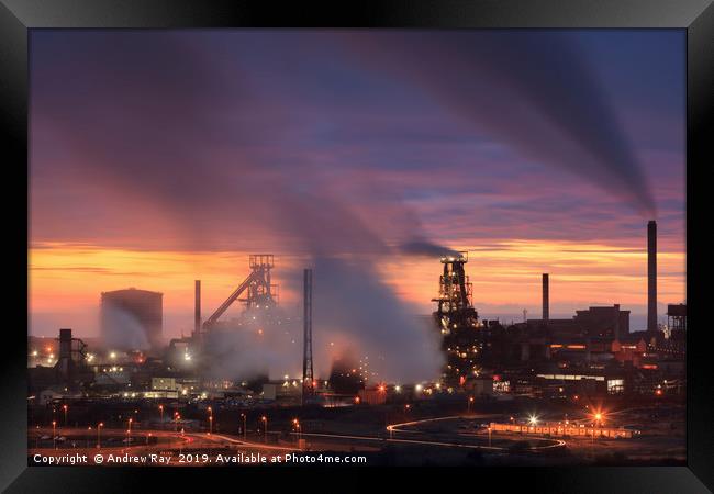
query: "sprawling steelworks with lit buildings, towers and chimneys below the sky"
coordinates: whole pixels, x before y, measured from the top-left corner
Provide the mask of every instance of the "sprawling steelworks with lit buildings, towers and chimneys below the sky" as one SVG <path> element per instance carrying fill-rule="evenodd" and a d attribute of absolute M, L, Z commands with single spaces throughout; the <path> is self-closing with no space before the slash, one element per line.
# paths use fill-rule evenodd
<path fill-rule="evenodd" d="M 313 337 L 327 338 L 313 335 L 313 304 L 321 303 L 313 301 L 313 274 L 320 283 L 320 271 L 303 270 L 302 311 L 291 319 L 279 303 L 272 274 L 280 266 L 271 254 L 250 255 L 245 278 L 208 316 L 201 301 L 207 287 L 196 280 L 193 329 L 168 341 L 161 293 L 103 292 L 100 338 L 79 338 L 70 328 L 59 329 L 57 339 L 30 337 L 29 447 L 349 448 L 387 461 L 390 441 L 408 448 L 410 437 L 413 447 L 450 445 L 479 454 L 570 448 L 579 461 L 592 461 L 590 444 L 623 440 L 648 445 L 643 454 L 656 461 L 652 451 L 662 444 L 679 445 L 687 306 L 670 304 L 668 323 L 657 323 L 654 221 L 647 225 L 643 330 L 632 330 L 631 311 L 617 303 L 553 318 L 550 288 L 558 277 L 551 273 L 540 278 L 539 318 L 483 319 L 467 274 L 469 254 L 435 258 L 435 274 L 437 262 L 429 325 L 443 368 L 423 382 L 373 379 L 369 362 L 357 356 L 335 359 L 328 374 L 316 375 Z M 234 304 L 241 306 L 237 317 L 225 317 Z M 243 372 L 227 360 L 236 346 L 265 345 L 266 334 L 287 334 L 291 323 L 302 333 L 294 345 L 300 375 L 275 379 L 267 361 Z M 655 430 L 643 418 L 652 413 L 667 417 L 670 429 Z M 682 451 L 672 450 L 680 458 Z"/>

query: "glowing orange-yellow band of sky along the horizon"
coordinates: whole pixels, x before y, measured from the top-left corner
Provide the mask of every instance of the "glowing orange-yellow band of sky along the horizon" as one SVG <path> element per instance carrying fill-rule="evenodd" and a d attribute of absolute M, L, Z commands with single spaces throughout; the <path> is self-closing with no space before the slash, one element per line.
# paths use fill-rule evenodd
<path fill-rule="evenodd" d="M 573 242 L 512 240 L 459 247 L 469 250 L 467 274 L 473 283 L 477 310 L 514 313 L 527 308 L 539 315 L 540 274 L 549 272 L 550 311 L 574 314 L 590 305 L 620 304 L 633 314 L 646 305 L 646 256 L 643 248 Z M 186 252 L 110 249 L 101 246 L 45 244 L 30 250 L 30 310 L 33 313 L 96 312 L 104 291 L 130 287 L 164 293 L 167 317 L 165 336 L 190 330 L 193 280 L 202 281 L 202 311 L 208 316 L 247 276 L 253 252 Z M 567 257 L 565 257 L 567 255 Z M 658 301 L 684 301 L 682 251 L 658 252 Z M 280 288 L 280 303 L 299 313 L 301 285 L 291 277 L 310 262 L 309 257 L 276 254 L 274 277 Z M 394 256 L 381 265 L 382 281 L 414 308 L 415 315 L 433 310 L 438 258 Z M 547 268 L 547 269 L 544 269 Z M 319 278 L 316 278 L 316 282 Z M 74 316 L 69 315 L 69 319 Z M 64 326 L 71 325 L 64 324 Z M 60 323 L 62 324 L 62 323 Z M 87 323 L 85 323 L 87 324 Z M 86 327 L 85 327 L 86 329 Z M 96 328 L 90 334 L 96 334 Z M 51 336 L 46 328 L 38 335 Z"/>

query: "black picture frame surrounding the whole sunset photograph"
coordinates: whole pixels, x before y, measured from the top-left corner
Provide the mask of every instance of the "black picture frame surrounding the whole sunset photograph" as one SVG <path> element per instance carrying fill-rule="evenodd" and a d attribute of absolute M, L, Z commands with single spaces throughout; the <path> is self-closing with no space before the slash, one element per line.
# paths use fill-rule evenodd
<path fill-rule="evenodd" d="M 29 30 L 33 29 L 185 29 L 185 27 L 437 27 L 437 29 L 681 29 L 687 31 L 687 292 L 688 333 L 688 460 L 687 467 L 638 468 L 528 468 L 511 474 L 503 469 L 481 468 L 464 482 L 498 482 L 499 489 L 514 483 L 528 492 L 707 492 L 714 490 L 714 417 L 709 366 L 711 329 L 704 325 L 704 209 L 707 165 L 714 164 L 714 5 L 712 0 L 401 0 L 349 2 L 188 1 L 188 0 L 0 0 L 0 104 L 4 135 L 4 220 L 12 229 L 11 256 L 5 267 L 14 269 L 7 283 L 2 338 L 0 396 L 0 487 L 8 492 L 126 492 L 137 490 L 146 475 L 159 481 L 186 482 L 204 475 L 205 469 L 101 469 L 27 467 L 26 460 L 26 327 L 27 306 L 27 81 Z M 20 194 L 14 190 L 21 191 Z M 29 199 L 29 198 L 26 198 Z M 23 234 L 25 233 L 24 238 Z M 8 235 L 10 237 L 10 235 Z M 25 262 L 23 263 L 22 260 Z M 23 266 L 24 265 L 24 266 Z M 16 297 L 16 302 L 12 299 Z M 24 303 L 23 303 L 24 301 Z M 8 317 L 12 315 L 13 317 Z M 181 472 L 177 472 L 181 470 Z M 203 472 L 197 472 L 203 470 Z M 214 472 L 216 469 L 211 469 Z M 272 473 L 243 469 L 250 474 Z M 305 469 L 300 469 L 302 472 Z M 130 474 L 127 474 L 127 472 Z M 197 475 L 198 473 L 198 475 Z M 293 469 L 279 475 L 294 479 Z M 281 475 L 286 473 L 288 475 Z M 349 473 L 353 475 L 357 472 Z M 359 473 L 357 473 L 358 475 Z M 163 478 L 160 475 L 164 475 Z M 211 473 L 213 481 L 236 481 L 236 470 Z M 400 478 L 402 475 L 399 475 Z M 406 474 L 405 474 L 406 476 Z M 349 483 L 347 476 L 345 483 Z M 316 481 L 315 481 L 316 482 Z M 460 482 L 460 481 L 457 481 Z M 189 484 L 185 484 L 188 486 Z M 152 487 L 155 489 L 155 487 Z M 320 489 L 330 489 L 323 485 Z M 365 489 L 369 489 L 366 486 Z M 447 487 L 449 489 L 449 487 Z"/>

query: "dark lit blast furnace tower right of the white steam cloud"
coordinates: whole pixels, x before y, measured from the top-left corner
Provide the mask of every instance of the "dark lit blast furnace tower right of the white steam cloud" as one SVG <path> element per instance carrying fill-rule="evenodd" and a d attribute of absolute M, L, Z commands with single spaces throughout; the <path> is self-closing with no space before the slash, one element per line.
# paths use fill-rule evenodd
<path fill-rule="evenodd" d="M 443 335 L 446 366 L 442 378 L 445 384 L 462 385 L 478 372 L 477 361 L 482 350 L 478 313 L 471 300 L 471 283 L 465 273 L 468 252 L 442 257 L 444 273 L 439 278 L 439 294 L 434 317 Z"/>

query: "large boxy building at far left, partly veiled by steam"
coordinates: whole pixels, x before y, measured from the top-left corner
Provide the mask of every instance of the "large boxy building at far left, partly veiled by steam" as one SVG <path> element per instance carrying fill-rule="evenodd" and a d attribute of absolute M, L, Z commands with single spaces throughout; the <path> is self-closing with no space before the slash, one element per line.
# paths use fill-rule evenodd
<path fill-rule="evenodd" d="M 101 335 L 112 349 L 152 350 L 163 346 L 164 294 L 137 290 L 102 292 Z"/>

